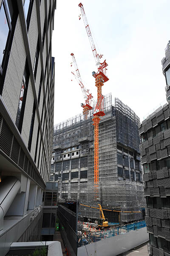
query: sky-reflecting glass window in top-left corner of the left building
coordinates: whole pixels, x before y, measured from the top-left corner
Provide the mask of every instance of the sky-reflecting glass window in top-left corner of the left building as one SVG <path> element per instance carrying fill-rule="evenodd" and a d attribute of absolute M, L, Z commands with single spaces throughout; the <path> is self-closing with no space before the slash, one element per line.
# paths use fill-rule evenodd
<path fill-rule="evenodd" d="M 2 4 L 0 8 L 0 65 L 2 66 L 3 55 L 5 53 L 6 41 L 9 33 L 8 16 L 6 16 L 5 5 Z"/>

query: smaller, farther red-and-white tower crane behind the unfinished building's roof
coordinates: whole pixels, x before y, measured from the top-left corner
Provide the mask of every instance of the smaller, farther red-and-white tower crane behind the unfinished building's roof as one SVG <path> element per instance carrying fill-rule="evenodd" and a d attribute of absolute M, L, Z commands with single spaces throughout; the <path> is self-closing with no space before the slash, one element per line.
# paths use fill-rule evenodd
<path fill-rule="evenodd" d="M 84 96 L 84 99 L 85 99 L 85 104 L 81 104 L 82 108 L 83 108 L 83 114 L 85 116 L 85 120 L 88 119 L 88 112 L 89 110 L 92 109 L 91 107 L 91 100 L 93 98 L 93 96 L 91 95 L 91 93 L 89 93 L 89 90 L 85 88 L 85 86 L 83 85 L 82 83 L 82 79 L 81 79 L 81 76 L 80 76 L 80 73 L 79 73 L 79 69 L 77 67 L 77 62 L 76 62 L 76 58 L 74 56 L 74 53 L 71 53 L 71 56 L 72 56 L 72 59 L 73 59 L 73 63 L 74 63 L 74 68 L 76 70 L 76 74 L 77 76 L 74 74 L 74 72 L 71 72 L 74 77 L 76 78 L 78 84 L 80 85 L 81 89 L 82 89 L 82 93 L 83 93 L 83 96 Z M 72 63 L 71 63 L 71 66 L 72 66 Z"/>

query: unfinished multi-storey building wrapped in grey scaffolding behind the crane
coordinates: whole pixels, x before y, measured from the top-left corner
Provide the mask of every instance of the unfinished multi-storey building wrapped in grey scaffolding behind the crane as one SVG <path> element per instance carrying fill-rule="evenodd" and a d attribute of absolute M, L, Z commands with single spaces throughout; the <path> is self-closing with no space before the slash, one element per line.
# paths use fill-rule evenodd
<path fill-rule="evenodd" d="M 109 222 L 143 219 L 144 196 L 139 154 L 139 117 L 119 99 L 104 98 L 99 123 L 99 186 L 94 188 L 93 109 L 54 126 L 51 176 L 59 181 L 59 201 L 75 201 L 107 209 Z M 133 213 L 139 211 L 141 213 Z M 99 211 L 79 206 L 79 214 L 99 217 Z"/>

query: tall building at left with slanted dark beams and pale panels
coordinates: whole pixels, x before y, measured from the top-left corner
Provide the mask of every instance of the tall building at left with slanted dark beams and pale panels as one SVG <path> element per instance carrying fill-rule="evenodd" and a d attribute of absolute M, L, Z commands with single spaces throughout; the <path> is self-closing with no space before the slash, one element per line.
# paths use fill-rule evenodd
<path fill-rule="evenodd" d="M 54 113 L 54 0 L 0 0 L 0 255 L 40 241 Z"/>

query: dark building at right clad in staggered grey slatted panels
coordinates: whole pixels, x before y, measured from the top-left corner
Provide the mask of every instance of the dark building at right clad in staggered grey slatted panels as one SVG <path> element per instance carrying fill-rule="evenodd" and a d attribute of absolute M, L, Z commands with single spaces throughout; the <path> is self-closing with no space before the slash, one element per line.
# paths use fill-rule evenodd
<path fill-rule="evenodd" d="M 162 59 L 170 102 L 170 42 Z M 144 195 L 150 255 L 170 256 L 170 107 L 165 104 L 147 116 L 139 128 L 144 167 Z"/>

